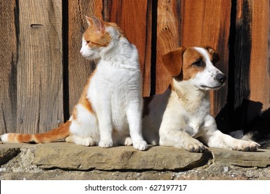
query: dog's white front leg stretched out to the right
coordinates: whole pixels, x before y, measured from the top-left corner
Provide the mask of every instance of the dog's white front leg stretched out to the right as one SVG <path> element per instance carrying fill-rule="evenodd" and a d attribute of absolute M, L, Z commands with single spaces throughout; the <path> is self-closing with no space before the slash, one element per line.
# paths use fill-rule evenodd
<path fill-rule="evenodd" d="M 260 147 L 258 143 L 254 141 L 244 141 L 241 139 L 235 139 L 228 134 L 223 134 L 221 131 L 217 130 L 217 124 L 212 116 L 208 117 L 205 126 L 202 127 L 202 136 L 199 140 L 208 145 L 210 148 L 225 148 L 229 150 L 239 150 L 239 151 L 255 151 Z"/>

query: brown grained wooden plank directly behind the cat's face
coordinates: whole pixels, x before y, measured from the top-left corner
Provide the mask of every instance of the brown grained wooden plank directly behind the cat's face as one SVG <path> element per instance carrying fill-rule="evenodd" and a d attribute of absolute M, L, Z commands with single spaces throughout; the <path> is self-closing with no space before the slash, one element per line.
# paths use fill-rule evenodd
<path fill-rule="evenodd" d="M 65 10 L 64 10 L 65 11 Z M 91 17 L 95 15 L 96 17 L 102 18 L 103 11 L 103 1 L 102 0 L 69 0 L 68 1 L 68 37 L 66 41 L 68 42 L 68 64 L 67 73 L 68 80 L 65 80 L 67 84 L 65 85 L 65 91 L 69 94 L 69 99 L 66 99 L 69 104 L 69 109 L 67 112 L 71 115 L 74 105 L 78 103 L 78 99 L 83 92 L 83 87 L 87 82 L 92 73 L 95 64 L 93 61 L 86 60 L 80 54 L 81 50 L 81 39 L 84 30 L 87 28 L 87 23 L 85 20 L 85 15 Z M 67 97 L 67 96 L 66 96 Z M 67 107 L 66 107 L 67 108 Z M 69 115 L 65 116 L 66 119 Z"/>

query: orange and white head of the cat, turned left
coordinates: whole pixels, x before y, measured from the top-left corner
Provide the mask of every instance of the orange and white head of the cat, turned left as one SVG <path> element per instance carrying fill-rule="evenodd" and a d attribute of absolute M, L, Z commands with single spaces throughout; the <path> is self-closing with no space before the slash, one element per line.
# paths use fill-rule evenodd
<path fill-rule="evenodd" d="M 80 53 L 87 59 L 100 58 L 101 53 L 109 51 L 123 34 L 115 23 L 94 16 L 85 18 L 88 28 L 83 33 Z"/>

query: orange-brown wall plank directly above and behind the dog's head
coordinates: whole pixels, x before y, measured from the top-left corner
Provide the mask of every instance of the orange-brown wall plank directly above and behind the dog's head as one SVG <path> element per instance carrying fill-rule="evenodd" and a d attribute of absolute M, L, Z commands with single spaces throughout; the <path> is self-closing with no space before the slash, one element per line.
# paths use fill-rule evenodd
<path fill-rule="evenodd" d="M 228 75 L 228 38 L 230 32 L 230 6 L 226 0 L 181 1 L 181 37 L 183 46 L 209 45 L 221 56 L 217 63 Z M 226 104 L 228 85 L 211 94 L 211 112 L 216 116 Z"/>

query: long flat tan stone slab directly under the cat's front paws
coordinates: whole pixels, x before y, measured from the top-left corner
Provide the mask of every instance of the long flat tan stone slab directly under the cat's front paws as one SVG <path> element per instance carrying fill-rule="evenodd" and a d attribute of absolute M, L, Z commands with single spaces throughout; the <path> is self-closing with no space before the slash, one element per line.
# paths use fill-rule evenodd
<path fill-rule="evenodd" d="M 38 146 L 33 164 L 42 169 L 69 170 L 181 170 L 208 164 L 212 154 L 190 153 L 177 148 L 151 146 L 147 151 L 132 146 L 103 149 L 69 143 Z"/>

